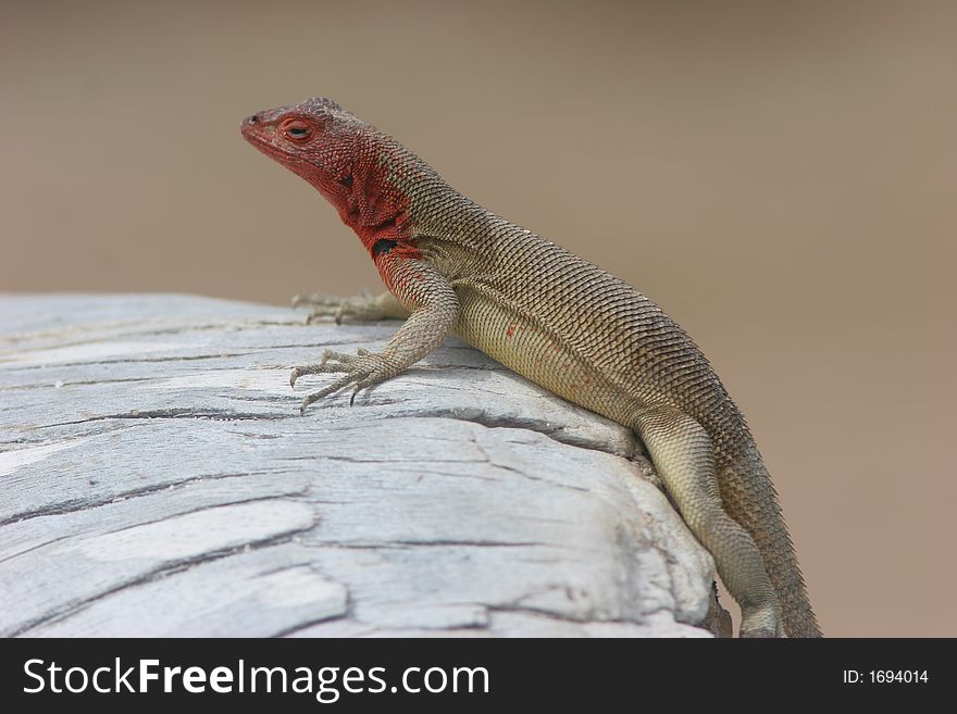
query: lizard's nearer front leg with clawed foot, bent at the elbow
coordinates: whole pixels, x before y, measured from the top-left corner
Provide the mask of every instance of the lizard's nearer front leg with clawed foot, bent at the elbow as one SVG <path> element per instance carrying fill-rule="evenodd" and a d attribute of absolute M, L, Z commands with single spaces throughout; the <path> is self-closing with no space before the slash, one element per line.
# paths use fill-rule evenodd
<path fill-rule="evenodd" d="M 297 366 L 289 384 L 307 374 L 343 374 L 327 387 L 302 400 L 300 412 L 314 401 L 352 386 L 352 398 L 396 376 L 435 350 L 451 331 L 459 313 L 459 299 L 449 283 L 421 260 L 383 255 L 380 271 L 395 292 L 398 302 L 408 306 L 410 315 L 382 352 L 359 350 L 344 354 L 326 350 L 319 364 Z"/>

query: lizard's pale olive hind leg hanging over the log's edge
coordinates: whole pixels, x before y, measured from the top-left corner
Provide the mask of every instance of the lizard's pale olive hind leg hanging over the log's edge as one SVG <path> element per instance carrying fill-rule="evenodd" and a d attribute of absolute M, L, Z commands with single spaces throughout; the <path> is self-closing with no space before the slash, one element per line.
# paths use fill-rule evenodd
<path fill-rule="evenodd" d="M 741 605 L 741 636 L 783 637 L 781 604 L 761 553 L 722 505 L 708 434 L 673 409 L 645 412 L 636 430 L 684 522 L 711 553 L 718 574 Z"/>

